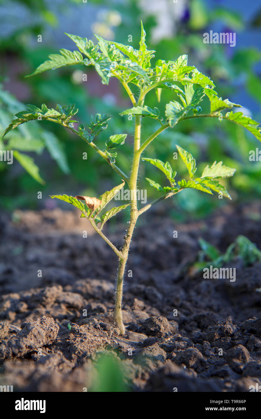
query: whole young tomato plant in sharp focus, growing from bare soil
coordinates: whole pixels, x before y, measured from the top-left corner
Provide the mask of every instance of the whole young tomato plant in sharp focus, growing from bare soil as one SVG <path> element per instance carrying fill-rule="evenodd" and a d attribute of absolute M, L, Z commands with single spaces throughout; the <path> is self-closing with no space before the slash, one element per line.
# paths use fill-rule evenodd
<path fill-rule="evenodd" d="M 124 334 L 121 312 L 124 270 L 138 217 L 152 207 L 152 205 L 157 204 L 163 199 L 171 198 L 186 188 L 198 189 L 208 194 L 212 194 L 212 191 L 214 191 L 231 199 L 225 187 L 220 184 L 220 178 L 233 176 L 235 172 L 235 169 L 223 165 L 222 162 L 214 162 L 212 166 L 204 168 L 201 176 L 196 177 L 195 159 L 188 151 L 183 150 L 183 148 L 177 145 L 178 153 L 188 169 L 189 179 L 181 179 L 176 182 L 176 172 L 173 172 L 169 162 L 164 163 L 157 158 L 142 157 L 143 161 L 151 163 L 165 174 L 168 180 L 168 186 L 161 186 L 155 181 L 146 178 L 150 185 L 157 189 L 159 197 L 139 209 L 137 203 L 137 178 L 141 156 L 145 152 L 146 147 L 165 129 L 173 128 L 178 122 L 192 118 L 210 117 L 227 119 L 248 129 L 258 140 L 261 140 L 261 129 L 258 127 L 258 122 L 243 115 L 242 112 L 234 113 L 232 108 L 240 107 L 240 105 L 232 103 L 228 99 L 223 100 L 218 97 L 214 90 L 215 86 L 212 80 L 199 72 L 196 67 L 188 65 L 186 55 L 181 55 L 176 61 L 158 59 L 155 67 L 151 67 L 150 60 L 155 56 L 155 51 L 147 49 L 145 44 L 146 34 L 142 24 L 139 49 L 134 49 L 131 46 L 119 44 L 118 42 L 106 41 L 97 35 L 97 45 L 94 45 L 93 41 L 81 38 L 80 36 L 66 35 L 75 42 L 79 51 L 71 52 L 67 49 L 61 49 L 60 54 L 49 55 L 49 60 L 39 65 L 32 75 L 67 65 L 80 64 L 83 66 L 92 65 L 101 76 L 103 84 L 108 84 L 111 77 L 119 80 L 132 102 L 132 107 L 122 111 L 121 115 L 133 115 L 135 118 L 133 158 L 130 174 L 123 173 L 118 166 L 120 162 L 117 165 L 115 164 L 117 157 L 115 150 L 124 143 L 127 134 L 112 135 L 105 143 L 103 150 L 95 142 L 98 134 L 107 128 L 108 121 L 112 117 L 111 115 L 91 115 L 89 123 L 85 125 L 81 124 L 78 129 L 75 129 L 74 122 L 77 121 L 74 120 L 74 115 L 78 111 L 75 108 L 75 104 L 67 106 L 58 104 L 56 109 L 48 109 L 45 104 L 41 105 L 41 109 L 34 105 L 27 105 L 28 111 L 16 114 L 17 119 L 12 121 L 6 129 L 5 134 L 24 122 L 34 119 L 47 119 L 48 121 L 63 125 L 80 136 L 119 174 L 122 180 L 121 183 L 111 189 L 111 191 L 104 192 L 99 199 L 96 197 L 72 197 L 68 195 L 52 195 L 52 198 L 62 199 L 80 209 L 82 213 L 81 217 L 86 217 L 90 221 L 94 230 L 96 230 L 118 256 L 119 267 L 116 281 L 114 318 L 116 326 L 119 327 L 121 334 Z M 138 93 L 133 93 L 131 89 L 133 85 L 135 86 L 135 91 Z M 173 101 L 167 103 L 165 106 L 165 122 L 162 122 L 163 118 L 160 117 L 160 112 L 157 108 L 151 109 L 145 104 L 146 95 L 152 90 L 155 90 L 158 101 L 160 101 L 162 89 L 168 89 L 173 92 Z M 199 106 L 204 96 L 207 96 L 210 101 L 210 111 L 207 114 L 203 114 Z M 229 111 L 221 114 L 225 109 Z M 143 121 L 144 123 L 147 122 L 146 117 L 153 118 L 157 121 L 159 128 L 150 137 L 141 142 L 141 124 Z M 109 209 L 109 211 L 100 215 L 125 183 L 128 184 L 129 191 L 131 192 L 130 201 L 125 205 Z M 103 234 L 103 225 L 112 216 L 116 215 L 117 212 L 124 210 L 128 206 L 130 206 L 130 213 L 127 233 L 124 236 L 123 247 L 119 250 Z"/>

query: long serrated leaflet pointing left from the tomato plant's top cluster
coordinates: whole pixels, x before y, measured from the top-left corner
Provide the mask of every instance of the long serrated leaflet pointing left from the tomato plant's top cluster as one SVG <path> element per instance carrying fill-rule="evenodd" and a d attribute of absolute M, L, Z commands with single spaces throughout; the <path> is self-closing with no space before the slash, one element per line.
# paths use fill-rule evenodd
<path fill-rule="evenodd" d="M 60 49 L 60 54 L 50 54 L 49 60 L 40 64 L 34 72 L 26 77 L 42 73 L 47 70 L 65 67 L 66 65 L 84 64 L 83 56 L 79 51 L 69 51 L 68 49 Z"/>

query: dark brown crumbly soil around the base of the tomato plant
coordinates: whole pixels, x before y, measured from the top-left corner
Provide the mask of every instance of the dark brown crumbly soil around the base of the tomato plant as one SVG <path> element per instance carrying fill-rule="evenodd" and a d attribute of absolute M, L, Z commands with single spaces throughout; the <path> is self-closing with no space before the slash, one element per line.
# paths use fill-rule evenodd
<path fill-rule="evenodd" d="M 145 218 L 127 266 L 124 337 L 113 321 L 117 258 L 86 220 L 59 209 L 17 211 L 12 222 L 3 215 L 0 384 L 91 391 L 104 352 L 119 360 L 129 391 L 261 385 L 261 264 L 233 261 L 235 282 L 189 269 L 199 237 L 225 251 L 241 234 L 260 249 L 260 212 L 257 202 L 186 225 L 157 213 Z M 109 236 L 121 244 L 121 234 Z"/>

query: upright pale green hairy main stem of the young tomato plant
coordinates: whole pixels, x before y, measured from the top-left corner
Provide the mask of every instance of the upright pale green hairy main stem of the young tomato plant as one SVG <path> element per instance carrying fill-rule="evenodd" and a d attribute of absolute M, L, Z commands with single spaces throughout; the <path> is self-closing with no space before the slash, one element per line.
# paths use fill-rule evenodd
<path fill-rule="evenodd" d="M 123 279 L 125 266 L 129 255 L 129 245 L 132 241 L 132 235 L 135 228 L 135 224 L 138 218 L 138 208 L 137 208 L 137 178 L 140 165 L 140 126 L 141 126 L 141 116 L 135 116 L 135 131 L 134 131 L 134 152 L 132 160 L 132 172 L 129 179 L 129 189 L 131 194 L 131 209 L 129 217 L 129 227 L 127 233 L 124 237 L 124 245 L 122 249 L 122 257 L 119 259 L 118 275 L 117 275 L 117 284 L 116 284 L 116 301 L 114 308 L 114 320 L 116 326 L 119 327 L 122 335 L 125 333 L 125 327 L 122 320 L 122 311 L 121 311 L 121 301 L 122 301 L 122 291 L 123 291 Z"/>

